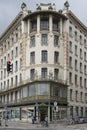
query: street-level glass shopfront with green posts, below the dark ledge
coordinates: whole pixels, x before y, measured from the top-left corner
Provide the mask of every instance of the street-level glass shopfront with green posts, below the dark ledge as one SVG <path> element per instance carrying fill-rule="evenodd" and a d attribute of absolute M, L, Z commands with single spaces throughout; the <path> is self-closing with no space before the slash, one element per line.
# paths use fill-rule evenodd
<path fill-rule="evenodd" d="M 6 108 L 0 110 L 2 119 L 8 118 L 13 120 L 32 121 L 32 117 L 44 121 L 48 117 L 49 122 L 65 118 L 67 115 L 66 106 L 58 106 L 58 111 L 54 111 L 54 106 L 50 104 L 35 104 L 35 106 L 21 106 Z"/>

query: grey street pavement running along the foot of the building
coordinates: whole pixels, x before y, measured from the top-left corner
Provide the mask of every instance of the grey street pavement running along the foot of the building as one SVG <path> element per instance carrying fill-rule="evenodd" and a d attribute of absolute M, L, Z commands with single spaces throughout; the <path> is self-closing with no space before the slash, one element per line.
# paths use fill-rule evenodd
<path fill-rule="evenodd" d="M 5 126 L 7 125 L 7 126 Z M 56 123 L 56 124 L 49 124 L 49 127 L 43 127 L 40 123 L 39 124 L 32 124 L 29 122 L 23 121 L 11 121 L 5 120 L 1 121 L 0 130 L 3 128 L 10 129 L 21 129 L 21 130 L 87 130 L 87 123 L 84 124 L 74 124 L 74 125 L 67 125 L 66 123 Z"/>

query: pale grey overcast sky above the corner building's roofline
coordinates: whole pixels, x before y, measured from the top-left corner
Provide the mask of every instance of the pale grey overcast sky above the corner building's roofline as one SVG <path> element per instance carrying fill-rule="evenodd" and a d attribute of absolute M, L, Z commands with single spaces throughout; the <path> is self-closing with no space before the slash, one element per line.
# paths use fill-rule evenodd
<path fill-rule="evenodd" d="M 21 11 L 21 4 L 26 3 L 34 11 L 38 3 L 55 3 L 56 9 L 62 9 L 66 0 L 0 0 L 0 35 L 6 30 L 16 15 Z M 70 10 L 87 26 L 87 0 L 68 0 Z"/>

